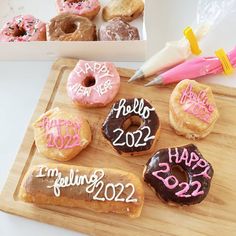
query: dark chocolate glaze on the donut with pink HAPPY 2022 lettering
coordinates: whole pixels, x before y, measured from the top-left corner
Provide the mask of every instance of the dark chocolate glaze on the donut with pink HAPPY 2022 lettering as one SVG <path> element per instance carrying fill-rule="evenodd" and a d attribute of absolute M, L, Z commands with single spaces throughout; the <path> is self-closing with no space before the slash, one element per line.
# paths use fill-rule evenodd
<path fill-rule="evenodd" d="M 195 154 L 197 154 L 197 156 L 200 159 L 205 160 L 195 145 L 189 144 L 183 147 L 178 147 L 177 150 L 179 152 L 179 156 L 181 156 L 184 149 L 187 149 L 189 153 L 194 152 Z M 171 148 L 171 153 L 175 153 L 175 148 Z M 192 204 L 200 203 L 207 196 L 210 189 L 211 179 L 214 173 L 211 164 L 207 162 L 208 163 L 207 166 L 209 166 L 209 170 L 207 171 L 207 174 L 210 176 L 210 178 L 206 178 L 202 175 L 194 176 L 194 174 L 199 174 L 202 171 L 204 171 L 204 168 L 201 168 L 199 166 L 195 168 L 194 170 L 192 169 L 192 167 L 196 164 L 196 162 L 193 162 L 190 166 L 187 166 L 185 164 L 185 161 L 176 163 L 173 160 L 175 160 L 175 158 L 172 158 L 172 163 L 170 163 L 168 149 L 159 150 L 146 164 L 146 170 L 144 172 L 144 181 L 147 182 L 151 187 L 153 187 L 156 191 L 156 194 L 159 195 L 164 201 L 167 201 L 167 202 L 170 201 L 170 202 L 174 202 L 180 205 L 192 205 Z M 204 191 L 204 194 L 198 195 L 198 196 L 191 196 L 191 197 L 176 196 L 175 193 L 182 190 L 183 187 L 180 187 L 178 185 L 174 189 L 168 189 L 161 180 L 153 176 L 152 174 L 153 172 L 165 169 L 163 167 L 160 167 L 159 163 L 168 163 L 170 165 L 170 168 L 173 168 L 174 166 L 180 166 L 185 171 L 188 177 L 187 183 L 190 186 L 186 194 L 191 194 L 196 189 L 196 186 L 191 186 L 191 183 L 193 181 L 199 181 L 201 183 L 200 191 Z M 171 171 L 168 173 L 160 172 L 158 174 L 158 176 L 161 176 L 163 179 L 171 175 L 173 175 Z M 179 183 L 181 182 L 182 181 L 179 180 Z"/>

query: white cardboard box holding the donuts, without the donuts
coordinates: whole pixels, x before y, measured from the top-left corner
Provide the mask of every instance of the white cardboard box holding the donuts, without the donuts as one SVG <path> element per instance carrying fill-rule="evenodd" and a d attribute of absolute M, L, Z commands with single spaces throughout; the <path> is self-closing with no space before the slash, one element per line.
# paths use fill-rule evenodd
<path fill-rule="evenodd" d="M 101 12 L 108 2 L 109 0 L 100 0 L 101 10 L 93 20 L 97 30 L 104 22 Z M 44 22 L 49 22 L 58 12 L 55 0 L 34 1 L 33 4 L 28 0 L 2 0 L 0 28 L 11 18 L 20 14 L 31 14 Z M 143 61 L 147 46 L 145 15 L 144 11 L 142 16 L 130 22 L 132 26 L 139 29 L 140 40 L 0 42 L 0 60 L 55 60 L 58 57 L 71 57 L 100 61 Z"/>

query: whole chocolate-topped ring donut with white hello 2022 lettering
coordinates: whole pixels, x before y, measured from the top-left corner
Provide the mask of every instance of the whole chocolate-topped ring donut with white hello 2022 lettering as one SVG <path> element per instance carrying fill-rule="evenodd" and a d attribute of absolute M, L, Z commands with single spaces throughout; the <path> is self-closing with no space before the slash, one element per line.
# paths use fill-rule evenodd
<path fill-rule="evenodd" d="M 160 120 L 145 99 L 123 98 L 113 105 L 102 133 L 118 154 L 140 156 L 153 152 L 160 135 Z"/>

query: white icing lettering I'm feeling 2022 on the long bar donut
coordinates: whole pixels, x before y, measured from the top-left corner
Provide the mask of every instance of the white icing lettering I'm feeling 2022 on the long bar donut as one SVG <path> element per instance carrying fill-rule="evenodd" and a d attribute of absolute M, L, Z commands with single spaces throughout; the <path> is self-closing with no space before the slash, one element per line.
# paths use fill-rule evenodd
<path fill-rule="evenodd" d="M 92 199 L 95 201 L 116 201 L 132 203 L 137 202 L 136 198 L 133 198 L 135 193 L 135 187 L 132 183 L 104 183 L 103 178 L 105 172 L 103 169 L 94 170 L 89 176 L 80 175 L 78 169 L 70 169 L 68 175 L 63 176 L 62 172 L 57 168 L 50 169 L 47 166 L 40 166 L 36 178 L 54 178 L 54 182 L 48 185 L 48 189 L 53 189 L 55 197 L 61 196 L 61 190 L 69 187 L 79 188 L 80 186 L 86 186 L 86 193 L 92 194 Z M 124 190 L 130 190 L 130 194 L 121 197 Z M 79 191 L 79 190 L 78 190 Z"/>

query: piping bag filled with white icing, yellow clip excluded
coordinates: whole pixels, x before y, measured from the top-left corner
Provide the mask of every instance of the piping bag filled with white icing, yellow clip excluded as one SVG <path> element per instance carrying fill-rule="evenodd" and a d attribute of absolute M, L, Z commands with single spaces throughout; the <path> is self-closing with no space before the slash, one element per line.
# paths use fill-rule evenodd
<path fill-rule="evenodd" d="M 203 39 L 235 9 L 236 0 L 199 0 L 197 19 L 192 25 L 197 41 Z M 158 74 L 184 62 L 191 55 L 191 46 L 185 37 L 179 41 L 167 42 L 161 51 L 153 55 L 136 71 L 129 82 Z"/>

